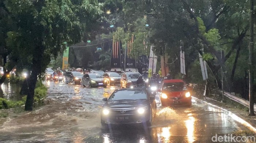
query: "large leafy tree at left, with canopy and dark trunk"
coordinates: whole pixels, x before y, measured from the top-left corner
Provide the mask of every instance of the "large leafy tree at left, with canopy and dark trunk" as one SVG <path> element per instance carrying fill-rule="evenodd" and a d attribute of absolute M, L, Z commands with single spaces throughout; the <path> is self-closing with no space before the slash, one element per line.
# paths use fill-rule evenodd
<path fill-rule="evenodd" d="M 15 46 L 31 57 L 25 105 L 25 110 L 30 111 L 33 109 L 35 84 L 44 73 L 50 57 L 56 57 L 59 51 L 63 51 L 64 41 L 69 44 L 80 42 L 86 27 L 81 21 L 89 22 L 101 11 L 96 0 L 5 0 L 5 5 L 16 23 L 12 30 L 15 35 L 11 36 Z"/>

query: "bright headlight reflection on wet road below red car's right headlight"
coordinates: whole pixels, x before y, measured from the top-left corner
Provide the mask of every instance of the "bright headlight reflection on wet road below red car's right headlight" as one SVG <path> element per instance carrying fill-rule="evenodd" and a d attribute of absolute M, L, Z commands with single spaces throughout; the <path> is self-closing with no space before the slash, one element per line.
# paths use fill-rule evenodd
<path fill-rule="evenodd" d="M 195 139 L 194 139 L 195 118 L 193 116 L 189 116 L 188 120 L 185 120 L 185 123 L 186 123 L 186 127 L 187 127 L 188 143 L 193 143 L 195 141 Z"/>

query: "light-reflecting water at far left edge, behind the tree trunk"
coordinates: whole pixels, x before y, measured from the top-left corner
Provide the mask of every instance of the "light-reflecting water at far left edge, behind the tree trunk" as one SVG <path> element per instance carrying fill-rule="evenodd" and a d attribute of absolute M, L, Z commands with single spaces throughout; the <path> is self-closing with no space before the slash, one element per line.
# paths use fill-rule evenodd
<path fill-rule="evenodd" d="M 21 100 L 22 96 L 19 96 L 21 87 L 16 84 L 3 83 L 1 85 L 3 94 L 0 92 L 0 98 L 12 99 L 12 100 Z"/>

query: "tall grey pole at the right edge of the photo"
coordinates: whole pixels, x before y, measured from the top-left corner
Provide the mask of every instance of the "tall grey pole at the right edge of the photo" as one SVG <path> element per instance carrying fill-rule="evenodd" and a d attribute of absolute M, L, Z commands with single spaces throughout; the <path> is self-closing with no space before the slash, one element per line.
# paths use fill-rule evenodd
<path fill-rule="evenodd" d="M 254 16 L 254 0 L 250 0 L 250 43 L 249 43 L 249 99 L 250 99 L 250 113 L 249 116 L 255 116 L 254 114 L 254 102 L 253 102 L 253 16 Z"/>

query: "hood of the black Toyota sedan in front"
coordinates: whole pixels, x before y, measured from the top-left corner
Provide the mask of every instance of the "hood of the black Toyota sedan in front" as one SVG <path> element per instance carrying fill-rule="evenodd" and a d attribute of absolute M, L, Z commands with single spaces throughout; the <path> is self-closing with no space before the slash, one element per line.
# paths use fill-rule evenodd
<path fill-rule="evenodd" d="M 148 105 L 148 100 L 118 100 L 118 101 L 108 101 L 105 103 L 104 107 L 108 108 L 136 108 Z"/>

